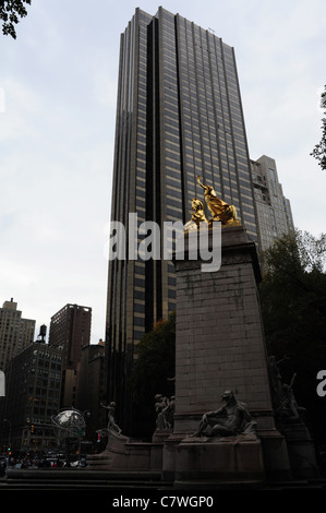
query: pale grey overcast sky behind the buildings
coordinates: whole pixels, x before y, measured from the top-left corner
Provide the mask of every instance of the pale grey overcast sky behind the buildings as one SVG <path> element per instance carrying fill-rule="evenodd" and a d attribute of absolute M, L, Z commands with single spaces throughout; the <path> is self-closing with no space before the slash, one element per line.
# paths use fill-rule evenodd
<path fill-rule="evenodd" d="M 251 158 L 276 159 L 294 225 L 325 231 L 321 139 L 325 0 L 32 0 L 0 35 L 0 306 L 49 326 L 68 302 L 105 337 L 120 34 L 159 5 L 236 49 Z"/>

